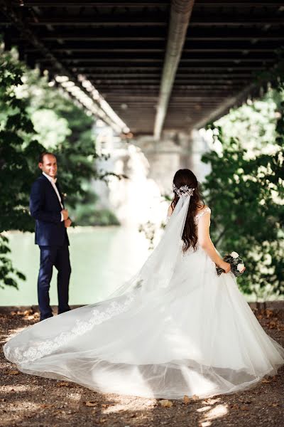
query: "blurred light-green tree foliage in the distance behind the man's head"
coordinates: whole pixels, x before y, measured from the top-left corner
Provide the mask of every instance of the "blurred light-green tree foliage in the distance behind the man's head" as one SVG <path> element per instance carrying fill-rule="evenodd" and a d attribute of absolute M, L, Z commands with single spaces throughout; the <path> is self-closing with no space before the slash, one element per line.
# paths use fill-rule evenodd
<path fill-rule="evenodd" d="M 91 178 L 100 179 L 94 162 L 99 158 L 92 132 L 94 119 L 58 88 L 50 87 L 38 70 L 28 70 L 25 77 L 19 95 L 28 100 L 28 112 L 40 132 L 38 140 L 58 157 L 58 179 L 72 216 L 72 209 L 87 195 L 84 184 Z"/>

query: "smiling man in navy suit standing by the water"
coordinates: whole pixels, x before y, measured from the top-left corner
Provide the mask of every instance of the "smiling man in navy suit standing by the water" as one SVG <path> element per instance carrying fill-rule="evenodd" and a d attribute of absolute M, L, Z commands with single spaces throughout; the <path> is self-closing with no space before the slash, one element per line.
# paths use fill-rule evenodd
<path fill-rule="evenodd" d="M 66 228 L 70 227 L 71 220 L 64 208 L 63 196 L 56 179 L 58 164 L 55 154 L 40 154 L 38 167 L 43 173 L 31 188 L 30 211 L 35 218 L 35 244 L 40 247 L 38 306 L 40 320 L 45 320 L 53 316 L 49 298 L 53 265 L 58 270 L 58 314 L 70 310 L 68 293 L 71 266 Z"/>

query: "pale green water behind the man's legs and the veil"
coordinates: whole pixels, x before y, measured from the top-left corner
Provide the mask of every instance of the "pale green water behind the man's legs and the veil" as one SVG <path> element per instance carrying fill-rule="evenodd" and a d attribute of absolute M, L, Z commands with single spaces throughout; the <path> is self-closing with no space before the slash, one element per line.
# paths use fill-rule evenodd
<path fill-rule="evenodd" d="M 137 228 L 78 227 L 70 230 L 70 304 L 105 299 L 131 278 L 148 256 L 148 242 Z M 11 259 L 26 275 L 19 289 L 0 289 L 0 305 L 33 305 L 37 300 L 40 251 L 33 233 L 9 232 Z M 50 284 L 50 303 L 58 304 L 57 270 Z"/>

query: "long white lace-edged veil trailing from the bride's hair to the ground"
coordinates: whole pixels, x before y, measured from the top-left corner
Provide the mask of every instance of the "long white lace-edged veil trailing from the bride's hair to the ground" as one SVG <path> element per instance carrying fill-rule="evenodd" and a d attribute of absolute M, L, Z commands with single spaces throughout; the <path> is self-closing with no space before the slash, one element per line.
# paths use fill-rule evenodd
<path fill-rule="evenodd" d="M 160 242 L 136 275 L 112 292 L 107 299 L 27 327 L 4 345 L 7 359 L 23 365 L 55 350 L 60 352 L 60 348 L 72 342 L 75 337 L 84 335 L 95 325 L 129 310 L 130 307 L 137 314 L 144 304 L 148 304 L 149 294 L 152 301 L 160 301 L 160 293 L 165 292 L 173 277 L 189 203 L 190 196 L 180 197 Z"/>

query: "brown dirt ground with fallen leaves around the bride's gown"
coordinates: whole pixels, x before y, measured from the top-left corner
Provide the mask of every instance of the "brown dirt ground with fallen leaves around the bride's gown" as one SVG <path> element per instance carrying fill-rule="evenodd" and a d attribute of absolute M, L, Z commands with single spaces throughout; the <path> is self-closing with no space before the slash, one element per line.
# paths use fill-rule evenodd
<path fill-rule="evenodd" d="M 266 332 L 284 346 L 284 302 L 269 303 L 266 309 L 253 308 L 253 311 Z M 3 344 L 9 335 L 37 321 L 36 307 L 0 307 L 0 426 L 284 425 L 284 367 L 277 376 L 262 379 L 249 391 L 212 399 L 168 402 L 101 394 L 74 383 L 22 374 L 5 359 Z"/>

